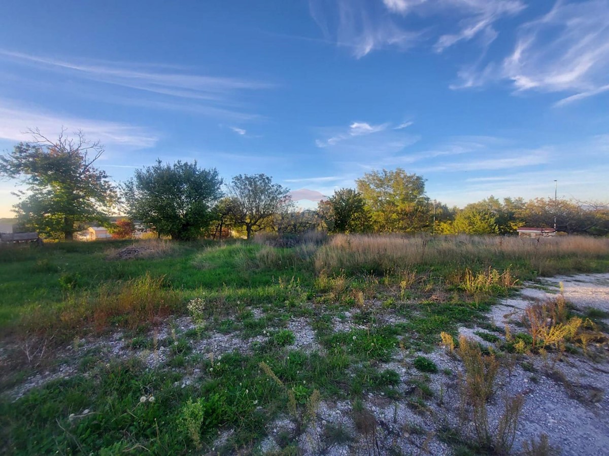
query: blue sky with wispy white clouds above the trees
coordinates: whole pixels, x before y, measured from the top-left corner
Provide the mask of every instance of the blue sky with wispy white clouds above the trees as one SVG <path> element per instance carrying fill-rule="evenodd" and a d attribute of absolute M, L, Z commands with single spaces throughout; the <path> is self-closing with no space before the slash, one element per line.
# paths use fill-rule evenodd
<path fill-rule="evenodd" d="M 5 2 L 0 150 L 62 125 L 115 181 L 159 157 L 311 200 L 403 167 L 449 205 L 607 201 L 609 0 Z"/>

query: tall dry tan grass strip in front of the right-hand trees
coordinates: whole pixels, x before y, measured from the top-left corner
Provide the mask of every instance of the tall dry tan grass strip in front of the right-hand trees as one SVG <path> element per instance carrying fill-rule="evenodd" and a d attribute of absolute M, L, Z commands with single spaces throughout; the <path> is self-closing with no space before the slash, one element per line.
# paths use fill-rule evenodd
<path fill-rule="evenodd" d="M 609 258 L 609 238 L 336 235 L 317 251 L 315 269 L 382 274 L 421 264 L 465 268 L 524 261 L 538 274 L 549 275 L 565 268 L 585 269 L 585 261 L 599 258 Z"/>

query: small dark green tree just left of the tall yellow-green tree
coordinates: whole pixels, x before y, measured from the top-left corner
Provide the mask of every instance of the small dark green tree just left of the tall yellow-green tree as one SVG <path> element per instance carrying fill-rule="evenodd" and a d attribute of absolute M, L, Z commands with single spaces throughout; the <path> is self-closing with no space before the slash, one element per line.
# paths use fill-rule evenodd
<path fill-rule="evenodd" d="M 340 188 L 328 201 L 320 202 L 329 232 L 364 233 L 370 229 L 370 215 L 361 193 Z"/>

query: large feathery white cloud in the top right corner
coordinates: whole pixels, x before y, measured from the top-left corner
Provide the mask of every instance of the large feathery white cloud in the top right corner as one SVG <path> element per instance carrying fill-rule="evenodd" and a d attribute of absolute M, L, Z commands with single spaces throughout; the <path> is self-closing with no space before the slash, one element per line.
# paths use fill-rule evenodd
<path fill-rule="evenodd" d="M 558 1 L 518 29 L 511 54 L 501 63 L 462 69 L 452 88 L 510 80 L 517 92 L 575 92 L 555 106 L 609 91 L 609 2 Z"/>

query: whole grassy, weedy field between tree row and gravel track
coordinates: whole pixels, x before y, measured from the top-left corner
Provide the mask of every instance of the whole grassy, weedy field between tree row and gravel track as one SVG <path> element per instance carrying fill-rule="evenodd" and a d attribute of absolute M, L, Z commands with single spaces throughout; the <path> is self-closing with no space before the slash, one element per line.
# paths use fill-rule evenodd
<path fill-rule="evenodd" d="M 2 247 L 0 452 L 249 454 L 285 419 L 293 426 L 273 451 L 299 454 L 296 436 L 324 402 L 350 402 L 356 423 L 368 394 L 424 409 L 429 376 L 451 375 L 425 357 L 440 334 L 500 333 L 484 312 L 521 281 L 609 271 L 606 238 L 275 245 Z M 139 257 L 125 259 L 128 247 Z M 419 373 L 407 395 L 398 353 Z M 44 382 L 23 389 L 37 375 Z M 329 425 L 318 434 L 320 451 L 356 438 Z M 492 447 L 452 442 L 462 454 Z"/>

